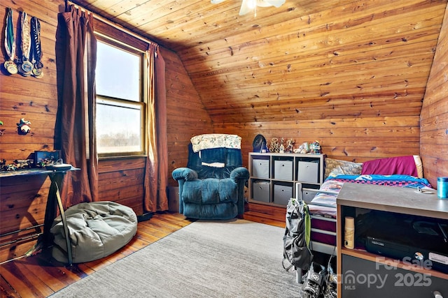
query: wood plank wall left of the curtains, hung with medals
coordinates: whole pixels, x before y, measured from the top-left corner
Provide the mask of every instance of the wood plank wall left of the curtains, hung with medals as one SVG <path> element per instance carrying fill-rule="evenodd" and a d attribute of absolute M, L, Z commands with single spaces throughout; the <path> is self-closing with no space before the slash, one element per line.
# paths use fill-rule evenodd
<path fill-rule="evenodd" d="M 4 26 L 6 7 L 13 9 L 16 54 L 20 52 L 18 38 L 19 11 L 35 16 L 41 21 L 41 44 L 43 50 L 43 78 L 8 75 L 1 67 L 0 73 L 0 120 L 3 135 L 0 136 L 0 158 L 6 163 L 15 159 L 29 158 L 35 150 L 54 149 L 54 131 L 57 112 L 55 32 L 57 13 L 63 1 L 1 1 L 0 19 Z M 3 31 L 2 26 L 2 31 Z M 1 35 L 3 42 L 4 34 Z M 2 45 L 1 64 L 6 52 Z M 18 135 L 17 123 L 21 118 L 31 121 L 31 132 Z M 43 224 L 45 203 L 50 187 L 45 177 L 26 179 L 3 178 L 0 181 L 0 234 L 13 232 L 0 238 L 0 244 L 15 241 L 19 237 L 30 237 L 0 247 L 0 262 L 23 255 L 34 244 L 35 229 L 14 232 Z"/>

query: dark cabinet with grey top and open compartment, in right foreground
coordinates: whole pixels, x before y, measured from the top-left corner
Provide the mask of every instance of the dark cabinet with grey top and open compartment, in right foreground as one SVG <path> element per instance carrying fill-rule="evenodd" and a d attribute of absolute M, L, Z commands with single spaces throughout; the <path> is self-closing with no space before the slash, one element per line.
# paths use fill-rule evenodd
<path fill-rule="evenodd" d="M 363 249 L 344 247 L 345 216 L 358 216 L 371 211 L 379 211 L 384 216 L 412 216 L 448 224 L 448 200 L 437 199 L 435 190 L 422 193 L 415 188 L 344 184 L 337 197 L 338 296 L 430 298 L 440 293 L 441 297 L 448 297 L 448 274 L 433 269 L 433 262 L 426 258 L 388 258 Z M 406 235 L 403 230 L 402 237 Z M 396 242 L 405 242 L 402 240 L 396 239 Z M 417 255 L 412 248 L 409 252 L 408 255 Z M 448 255 L 448 251 L 442 253 Z"/>

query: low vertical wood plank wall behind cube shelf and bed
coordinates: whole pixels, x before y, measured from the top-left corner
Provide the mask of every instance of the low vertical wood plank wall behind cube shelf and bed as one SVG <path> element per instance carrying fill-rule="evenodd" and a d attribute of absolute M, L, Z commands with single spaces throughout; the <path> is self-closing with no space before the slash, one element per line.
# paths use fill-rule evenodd
<path fill-rule="evenodd" d="M 236 133 L 243 137 L 242 150 L 247 165 L 248 152 L 259 133 L 267 142 L 276 137 L 303 142 L 318 140 L 328 157 L 362 163 L 375 158 L 419 154 L 419 116 L 333 118 L 246 124 L 214 124 L 216 133 Z"/>

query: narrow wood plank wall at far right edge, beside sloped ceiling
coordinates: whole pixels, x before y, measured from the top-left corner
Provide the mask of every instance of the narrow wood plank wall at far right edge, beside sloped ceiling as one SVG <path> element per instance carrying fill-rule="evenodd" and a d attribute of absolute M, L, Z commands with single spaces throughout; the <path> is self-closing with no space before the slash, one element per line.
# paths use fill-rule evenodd
<path fill-rule="evenodd" d="M 420 154 L 433 186 L 448 177 L 448 6 L 421 109 Z"/>

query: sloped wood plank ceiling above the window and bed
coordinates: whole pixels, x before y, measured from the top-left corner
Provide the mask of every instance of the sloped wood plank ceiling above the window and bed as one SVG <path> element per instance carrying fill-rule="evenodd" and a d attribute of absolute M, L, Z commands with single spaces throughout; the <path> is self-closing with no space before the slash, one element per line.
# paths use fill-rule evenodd
<path fill-rule="evenodd" d="M 215 124 L 418 116 L 447 0 L 76 0 L 174 50 Z"/>

